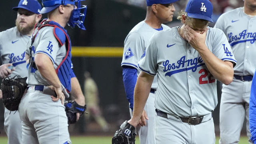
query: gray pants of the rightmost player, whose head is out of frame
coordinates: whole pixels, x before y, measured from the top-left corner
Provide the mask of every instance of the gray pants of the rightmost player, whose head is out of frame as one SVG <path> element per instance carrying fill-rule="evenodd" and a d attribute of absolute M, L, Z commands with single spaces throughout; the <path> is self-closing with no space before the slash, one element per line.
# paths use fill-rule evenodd
<path fill-rule="evenodd" d="M 241 80 L 234 79 L 228 86 L 222 86 L 220 100 L 220 144 L 238 144 L 244 120 L 246 120 L 248 143 L 252 143 L 249 129 L 251 84 L 252 82 L 242 82 Z"/>

